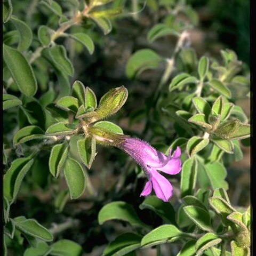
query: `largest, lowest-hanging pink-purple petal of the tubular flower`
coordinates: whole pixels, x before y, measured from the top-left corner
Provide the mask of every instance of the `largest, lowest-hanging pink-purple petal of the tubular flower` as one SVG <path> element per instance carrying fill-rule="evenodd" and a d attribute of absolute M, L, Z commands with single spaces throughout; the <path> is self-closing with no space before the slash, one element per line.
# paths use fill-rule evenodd
<path fill-rule="evenodd" d="M 173 195 L 171 183 L 156 170 L 151 170 L 151 174 L 151 182 L 153 183 L 156 196 L 162 199 L 164 202 L 168 202 Z"/>

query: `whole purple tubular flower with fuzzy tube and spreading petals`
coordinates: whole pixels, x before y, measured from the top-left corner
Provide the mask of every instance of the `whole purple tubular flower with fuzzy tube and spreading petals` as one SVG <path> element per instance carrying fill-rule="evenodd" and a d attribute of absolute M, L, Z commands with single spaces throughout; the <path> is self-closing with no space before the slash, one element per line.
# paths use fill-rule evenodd
<path fill-rule="evenodd" d="M 180 148 L 177 147 L 173 155 L 170 150 L 169 156 L 166 156 L 151 147 L 146 141 L 131 137 L 125 137 L 119 147 L 130 155 L 147 175 L 148 181 L 140 195 L 148 196 L 153 188 L 158 198 L 168 202 L 173 195 L 173 188 L 171 183 L 158 171 L 172 175 L 181 171 Z"/>

